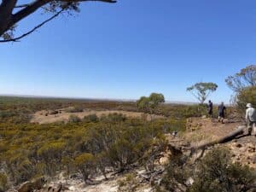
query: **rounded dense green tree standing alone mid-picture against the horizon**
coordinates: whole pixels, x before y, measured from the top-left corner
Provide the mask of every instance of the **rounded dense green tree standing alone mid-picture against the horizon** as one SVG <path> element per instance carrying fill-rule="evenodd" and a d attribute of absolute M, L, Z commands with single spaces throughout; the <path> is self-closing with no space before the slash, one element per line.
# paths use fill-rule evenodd
<path fill-rule="evenodd" d="M 137 100 L 137 108 L 144 113 L 155 113 L 161 103 L 164 103 L 165 96 L 161 93 L 151 93 L 150 96 L 142 96 Z"/>

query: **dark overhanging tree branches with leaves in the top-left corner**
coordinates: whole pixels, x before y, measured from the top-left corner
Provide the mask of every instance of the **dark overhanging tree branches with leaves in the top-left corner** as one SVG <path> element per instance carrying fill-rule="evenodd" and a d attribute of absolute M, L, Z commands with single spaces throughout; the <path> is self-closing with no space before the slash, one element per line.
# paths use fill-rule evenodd
<path fill-rule="evenodd" d="M 0 43 L 18 41 L 61 14 L 72 15 L 79 12 L 80 3 L 93 1 L 116 3 L 114 0 L 2 0 L 0 1 L 0 38 L 2 38 Z M 32 16 L 38 10 L 41 10 L 43 14 L 49 14 L 49 18 L 43 22 L 38 21 L 37 26 L 15 37 L 20 21 Z"/>

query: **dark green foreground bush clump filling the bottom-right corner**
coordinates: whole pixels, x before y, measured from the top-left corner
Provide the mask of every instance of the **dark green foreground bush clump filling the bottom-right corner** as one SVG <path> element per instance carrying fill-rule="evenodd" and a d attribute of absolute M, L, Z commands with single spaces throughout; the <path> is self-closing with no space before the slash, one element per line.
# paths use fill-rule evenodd
<path fill-rule="evenodd" d="M 253 192 L 256 172 L 232 163 L 228 148 L 214 148 L 197 164 L 183 154 L 172 156 L 158 191 Z"/>

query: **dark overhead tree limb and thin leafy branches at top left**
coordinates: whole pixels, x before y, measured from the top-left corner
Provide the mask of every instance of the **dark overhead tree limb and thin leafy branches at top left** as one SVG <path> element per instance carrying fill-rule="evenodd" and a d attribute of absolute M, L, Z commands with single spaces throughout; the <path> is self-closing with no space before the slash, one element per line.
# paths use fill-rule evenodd
<path fill-rule="evenodd" d="M 116 0 L 34 0 L 31 3 L 19 3 L 19 0 L 3 0 L 0 3 L 0 38 L 3 38 L 0 42 L 9 42 L 16 41 L 21 37 L 24 38 L 31 32 L 26 32 L 24 35 L 21 35 L 19 38 L 11 37 L 8 32 L 14 29 L 20 20 L 24 20 L 28 15 L 32 15 L 34 12 L 38 11 L 40 8 L 44 8 L 45 5 L 51 6 L 52 9 L 49 12 L 54 13 L 54 18 L 58 16 L 58 12 L 65 12 L 67 10 L 70 13 L 71 10 L 78 11 L 79 3 L 85 2 L 102 2 L 102 3 L 117 3 Z M 18 10 L 14 13 L 14 10 Z M 63 9 L 63 10 L 62 10 Z M 51 19 L 52 20 L 52 19 Z M 49 21 L 49 20 L 48 20 Z M 47 22 L 48 22 L 47 21 Z M 44 22 L 43 22 L 44 23 Z M 42 23 L 39 23 L 38 26 L 34 28 L 38 29 L 43 26 Z M 34 29 L 33 28 L 33 29 Z M 34 31 L 32 29 L 32 31 Z M 10 34 L 12 34 L 10 32 Z M 5 39 L 6 37 L 11 37 Z"/>

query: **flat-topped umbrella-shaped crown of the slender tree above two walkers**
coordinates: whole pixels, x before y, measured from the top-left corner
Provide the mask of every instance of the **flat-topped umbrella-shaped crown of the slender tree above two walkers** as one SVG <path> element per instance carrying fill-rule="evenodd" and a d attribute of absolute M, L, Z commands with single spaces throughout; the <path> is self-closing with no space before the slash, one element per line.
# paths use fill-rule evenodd
<path fill-rule="evenodd" d="M 196 83 L 193 84 L 192 86 L 187 88 L 187 91 L 189 91 L 195 98 L 203 104 L 206 100 L 207 97 L 210 96 L 212 92 L 217 90 L 218 85 L 214 83 Z"/>

